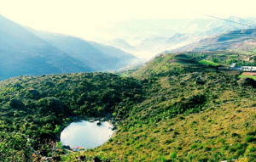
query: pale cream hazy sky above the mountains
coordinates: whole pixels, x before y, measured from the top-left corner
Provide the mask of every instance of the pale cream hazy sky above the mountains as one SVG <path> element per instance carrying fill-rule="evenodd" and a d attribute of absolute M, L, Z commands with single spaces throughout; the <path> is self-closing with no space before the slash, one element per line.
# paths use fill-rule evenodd
<path fill-rule="evenodd" d="M 133 19 L 256 17 L 255 0 L 0 0 L 0 14 L 35 29 L 94 39 Z"/>

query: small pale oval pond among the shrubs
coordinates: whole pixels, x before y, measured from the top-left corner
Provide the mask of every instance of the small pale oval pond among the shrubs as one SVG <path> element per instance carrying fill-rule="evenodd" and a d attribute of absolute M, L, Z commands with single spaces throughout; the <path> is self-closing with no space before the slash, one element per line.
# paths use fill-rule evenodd
<path fill-rule="evenodd" d="M 109 122 L 103 121 L 100 126 L 97 122 L 82 120 L 73 122 L 61 131 L 62 145 L 71 148 L 82 147 L 84 149 L 96 148 L 112 136 L 113 131 Z"/>

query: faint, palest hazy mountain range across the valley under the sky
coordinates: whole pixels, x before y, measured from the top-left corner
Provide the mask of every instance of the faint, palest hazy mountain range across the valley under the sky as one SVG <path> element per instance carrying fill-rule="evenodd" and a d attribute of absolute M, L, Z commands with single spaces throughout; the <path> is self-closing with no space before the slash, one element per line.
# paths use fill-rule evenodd
<path fill-rule="evenodd" d="M 244 25 L 241 25 L 244 24 Z M 120 43 L 114 44 L 129 53 L 150 59 L 166 50 L 198 42 L 207 36 L 215 36 L 230 31 L 247 29 L 247 25 L 256 25 L 255 19 L 241 19 L 235 16 L 219 20 L 214 18 L 195 20 L 130 20 L 119 22 L 112 31 L 123 40 L 129 42 L 137 50 L 122 48 Z M 129 28 L 127 28 L 129 26 Z M 111 44 L 113 45 L 113 44 Z"/>

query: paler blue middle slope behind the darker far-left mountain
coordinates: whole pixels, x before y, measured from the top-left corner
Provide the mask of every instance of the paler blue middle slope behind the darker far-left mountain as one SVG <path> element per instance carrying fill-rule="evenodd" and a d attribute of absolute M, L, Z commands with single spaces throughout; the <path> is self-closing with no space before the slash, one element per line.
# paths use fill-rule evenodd
<path fill-rule="evenodd" d="M 118 70 L 136 59 L 133 55 L 125 53 L 119 48 L 84 41 L 78 37 L 44 31 L 32 32 L 94 70 Z"/>

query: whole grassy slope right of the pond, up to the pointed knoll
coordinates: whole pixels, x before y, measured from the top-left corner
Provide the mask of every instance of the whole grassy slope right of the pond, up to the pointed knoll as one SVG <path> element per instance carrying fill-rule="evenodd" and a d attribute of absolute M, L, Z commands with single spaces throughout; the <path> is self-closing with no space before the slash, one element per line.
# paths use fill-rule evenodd
<path fill-rule="evenodd" d="M 135 75 L 144 75 L 150 82 L 144 87 L 148 89 L 147 98 L 133 106 L 130 117 L 119 124 L 110 142 L 86 151 L 86 156 L 98 155 L 113 161 L 219 161 L 242 157 L 253 161 L 256 156 L 253 87 L 242 87 L 236 75 L 215 70 L 191 73 L 184 64 L 180 64 L 182 67 L 175 64 L 176 74 L 168 73 L 165 67 L 173 70 L 170 60 L 174 57 L 160 56 L 136 72 Z M 200 95 L 206 97 L 205 102 L 196 100 Z M 252 138 L 254 142 L 249 140 Z M 70 154 L 66 158 L 79 155 Z"/>

